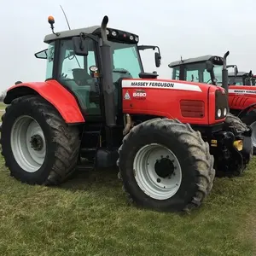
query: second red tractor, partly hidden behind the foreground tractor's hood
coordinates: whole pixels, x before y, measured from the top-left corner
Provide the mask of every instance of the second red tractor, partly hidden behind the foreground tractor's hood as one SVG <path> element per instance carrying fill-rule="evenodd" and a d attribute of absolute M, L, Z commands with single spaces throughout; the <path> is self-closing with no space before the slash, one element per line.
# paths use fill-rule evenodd
<path fill-rule="evenodd" d="M 250 125 L 252 131 L 253 154 L 256 154 L 256 87 L 250 85 L 229 84 L 228 75 L 222 77 L 222 69 L 224 73 L 228 73 L 223 57 L 215 55 L 205 55 L 198 58 L 190 58 L 187 60 L 174 61 L 168 65 L 172 68 L 172 79 L 183 81 L 194 81 L 197 83 L 214 84 L 224 87 L 229 92 L 229 108 L 228 115 L 230 119 L 235 121 L 235 116 L 241 121 Z M 237 70 L 237 67 L 235 68 Z M 234 114 L 234 115 L 233 115 Z M 237 120 L 237 119 L 236 119 Z M 241 124 L 236 123 L 237 128 Z"/>

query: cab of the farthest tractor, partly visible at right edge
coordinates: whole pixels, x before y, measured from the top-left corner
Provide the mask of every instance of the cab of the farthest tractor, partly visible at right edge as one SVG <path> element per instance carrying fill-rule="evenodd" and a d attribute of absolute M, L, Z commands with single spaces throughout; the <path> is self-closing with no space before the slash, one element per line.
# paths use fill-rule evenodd
<path fill-rule="evenodd" d="M 252 70 L 250 72 L 239 72 L 236 65 L 228 65 L 227 68 L 233 67 L 234 72 L 229 73 L 229 85 L 255 85 Z"/>

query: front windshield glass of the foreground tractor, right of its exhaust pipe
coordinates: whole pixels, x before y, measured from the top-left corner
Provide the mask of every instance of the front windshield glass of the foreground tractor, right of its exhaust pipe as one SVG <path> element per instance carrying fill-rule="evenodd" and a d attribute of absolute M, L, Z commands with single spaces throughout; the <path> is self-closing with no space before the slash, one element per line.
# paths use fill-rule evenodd
<path fill-rule="evenodd" d="M 113 50 L 113 81 L 119 77 L 139 78 L 139 73 L 143 72 L 141 61 L 134 44 L 111 43 Z"/>

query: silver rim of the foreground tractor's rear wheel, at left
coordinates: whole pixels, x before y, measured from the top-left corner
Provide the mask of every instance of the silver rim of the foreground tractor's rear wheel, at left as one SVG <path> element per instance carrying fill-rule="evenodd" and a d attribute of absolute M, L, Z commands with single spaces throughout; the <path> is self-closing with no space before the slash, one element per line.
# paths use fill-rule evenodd
<path fill-rule="evenodd" d="M 26 172 L 37 172 L 44 164 L 44 131 L 35 119 L 20 116 L 11 130 L 10 143 L 18 165 Z"/>

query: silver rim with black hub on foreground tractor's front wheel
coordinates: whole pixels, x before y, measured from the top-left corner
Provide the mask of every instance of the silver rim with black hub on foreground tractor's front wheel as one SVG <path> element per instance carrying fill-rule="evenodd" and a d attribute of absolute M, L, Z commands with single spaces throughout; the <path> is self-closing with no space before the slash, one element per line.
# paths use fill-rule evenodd
<path fill-rule="evenodd" d="M 182 169 L 176 155 L 157 143 L 148 144 L 137 152 L 133 170 L 140 189 L 157 200 L 171 198 L 181 185 Z"/>

